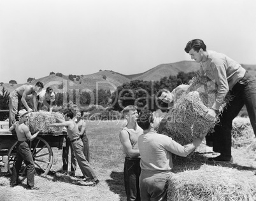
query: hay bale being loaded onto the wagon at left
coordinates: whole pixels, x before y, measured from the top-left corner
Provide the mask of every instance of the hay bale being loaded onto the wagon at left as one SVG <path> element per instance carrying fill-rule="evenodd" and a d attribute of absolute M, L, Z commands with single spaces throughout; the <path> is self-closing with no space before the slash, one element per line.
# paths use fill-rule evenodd
<path fill-rule="evenodd" d="M 26 124 L 32 133 L 38 130 L 42 133 L 62 132 L 63 127 L 49 127 L 50 123 L 59 123 L 57 122 L 57 118 L 64 120 L 64 115 L 54 112 L 50 113 L 48 111 L 38 111 L 29 115 L 29 120 Z"/>

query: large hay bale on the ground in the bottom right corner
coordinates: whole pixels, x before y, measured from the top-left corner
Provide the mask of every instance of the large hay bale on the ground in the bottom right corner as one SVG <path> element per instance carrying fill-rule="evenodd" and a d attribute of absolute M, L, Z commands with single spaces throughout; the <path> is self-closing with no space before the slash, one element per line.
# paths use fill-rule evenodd
<path fill-rule="evenodd" d="M 227 167 L 202 165 L 198 170 L 170 174 L 167 182 L 168 201 L 256 199 L 256 177 L 253 172 Z"/>

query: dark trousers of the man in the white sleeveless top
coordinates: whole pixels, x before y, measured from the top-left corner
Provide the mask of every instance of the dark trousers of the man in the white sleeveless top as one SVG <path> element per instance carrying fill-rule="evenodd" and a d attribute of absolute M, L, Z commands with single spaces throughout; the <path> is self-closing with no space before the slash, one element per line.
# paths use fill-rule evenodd
<path fill-rule="evenodd" d="M 125 157 L 124 161 L 124 187 L 127 200 L 141 200 L 139 195 L 139 176 L 141 167 L 140 158 Z"/>

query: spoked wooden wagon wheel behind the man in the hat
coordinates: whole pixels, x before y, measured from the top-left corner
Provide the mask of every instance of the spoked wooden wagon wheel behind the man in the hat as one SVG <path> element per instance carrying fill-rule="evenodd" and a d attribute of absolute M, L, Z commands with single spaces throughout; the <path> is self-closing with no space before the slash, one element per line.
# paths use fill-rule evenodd
<path fill-rule="evenodd" d="M 8 170 L 10 174 L 12 174 L 13 165 L 16 161 L 17 142 L 15 142 L 8 151 Z M 33 141 L 29 141 L 29 147 L 31 149 L 36 170 L 39 169 L 39 171 L 43 172 L 44 175 L 48 174 L 53 163 L 53 153 L 50 145 L 45 141 L 45 139 L 41 137 L 36 137 Z M 26 167 L 25 167 L 25 163 L 23 162 L 22 169 L 20 171 L 21 176 L 24 175 L 25 170 L 26 170 Z"/>

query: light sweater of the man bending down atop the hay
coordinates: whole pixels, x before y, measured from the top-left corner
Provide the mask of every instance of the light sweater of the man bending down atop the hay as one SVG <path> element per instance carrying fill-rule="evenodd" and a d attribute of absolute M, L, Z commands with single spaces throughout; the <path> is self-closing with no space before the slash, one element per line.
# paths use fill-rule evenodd
<path fill-rule="evenodd" d="M 245 76 L 246 70 L 236 61 L 223 53 L 207 51 L 208 59 L 200 62 L 200 74 L 208 76 L 218 85 L 217 96 L 212 108 L 218 110 L 224 102 L 227 92 Z"/>

